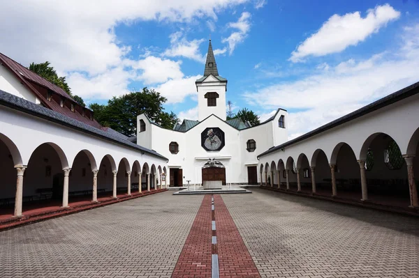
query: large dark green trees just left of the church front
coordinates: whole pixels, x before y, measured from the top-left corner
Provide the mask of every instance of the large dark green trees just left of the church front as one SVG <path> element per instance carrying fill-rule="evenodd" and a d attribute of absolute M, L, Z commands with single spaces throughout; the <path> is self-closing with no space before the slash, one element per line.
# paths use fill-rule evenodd
<path fill-rule="evenodd" d="M 94 111 L 95 118 L 101 125 L 126 136 L 133 136 L 137 133 L 137 116 L 142 113 L 163 128 L 172 129 L 179 122 L 173 112 L 169 114 L 164 111 L 163 103 L 166 101 L 159 92 L 143 88 L 140 92 L 113 97 L 108 105 L 93 103 L 89 108 Z"/>

